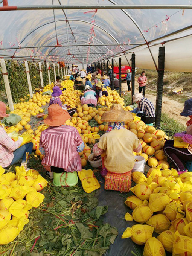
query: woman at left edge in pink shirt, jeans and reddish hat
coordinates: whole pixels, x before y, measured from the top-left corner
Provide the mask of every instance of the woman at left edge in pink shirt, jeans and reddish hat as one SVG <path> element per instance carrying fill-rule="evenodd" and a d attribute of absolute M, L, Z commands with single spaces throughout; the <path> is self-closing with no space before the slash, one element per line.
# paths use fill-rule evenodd
<path fill-rule="evenodd" d="M 5 103 L 0 101 L 0 120 L 8 116 L 9 114 L 6 114 Z M 3 125 L 0 123 L 0 166 L 5 168 L 14 165 L 22 158 L 21 166 L 27 171 L 29 170 L 27 168 L 27 162 L 33 149 L 33 143 L 29 142 L 21 146 L 23 138 L 18 137 L 18 140 L 14 141 L 11 139 L 14 137 L 15 131 L 7 134 Z"/>

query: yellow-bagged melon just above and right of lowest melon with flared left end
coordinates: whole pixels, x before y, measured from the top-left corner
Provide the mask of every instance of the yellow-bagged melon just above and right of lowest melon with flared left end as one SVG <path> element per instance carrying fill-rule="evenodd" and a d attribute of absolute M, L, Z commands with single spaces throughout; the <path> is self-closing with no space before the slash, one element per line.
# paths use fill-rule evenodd
<path fill-rule="evenodd" d="M 156 214 L 146 221 L 146 224 L 154 227 L 155 232 L 161 233 L 169 229 L 171 222 L 164 214 Z"/>

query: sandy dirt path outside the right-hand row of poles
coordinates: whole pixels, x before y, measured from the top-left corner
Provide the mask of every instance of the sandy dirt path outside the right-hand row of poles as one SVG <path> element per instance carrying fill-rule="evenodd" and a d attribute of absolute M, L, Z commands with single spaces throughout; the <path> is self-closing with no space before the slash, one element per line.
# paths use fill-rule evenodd
<path fill-rule="evenodd" d="M 122 83 L 122 91 L 127 91 L 126 82 Z M 136 85 L 135 92 L 138 91 L 138 86 Z M 128 92 L 131 93 L 131 92 Z M 152 94 L 145 94 L 146 98 L 150 99 L 154 106 L 156 105 L 156 96 Z M 174 118 L 175 120 L 179 121 L 183 125 L 186 125 L 186 122 L 189 120 L 189 117 L 180 116 L 181 111 L 183 111 L 184 105 L 178 101 L 173 99 L 169 99 L 166 96 L 163 96 L 163 103 L 162 103 L 162 112 L 169 115 L 169 117 Z"/>

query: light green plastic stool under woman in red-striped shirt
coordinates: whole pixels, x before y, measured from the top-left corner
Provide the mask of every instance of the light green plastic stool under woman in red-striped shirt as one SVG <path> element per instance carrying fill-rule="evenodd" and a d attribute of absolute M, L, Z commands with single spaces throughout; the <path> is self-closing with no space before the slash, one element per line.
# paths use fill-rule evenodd
<path fill-rule="evenodd" d="M 61 173 L 53 172 L 53 184 L 55 186 L 73 187 L 77 183 L 78 183 L 77 172 L 61 172 Z"/>

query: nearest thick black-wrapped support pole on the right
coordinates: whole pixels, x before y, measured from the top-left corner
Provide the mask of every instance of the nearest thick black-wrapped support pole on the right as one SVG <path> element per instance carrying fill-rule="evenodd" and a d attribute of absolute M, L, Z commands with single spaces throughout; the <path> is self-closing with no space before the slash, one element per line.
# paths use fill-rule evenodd
<path fill-rule="evenodd" d="M 161 46 L 159 47 L 159 51 L 158 51 L 157 98 L 156 98 L 156 113 L 155 113 L 155 126 L 157 126 L 158 129 L 160 129 L 160 126 L 161 126 L 164 69 L 165 69 L 165 46 Z"/>

